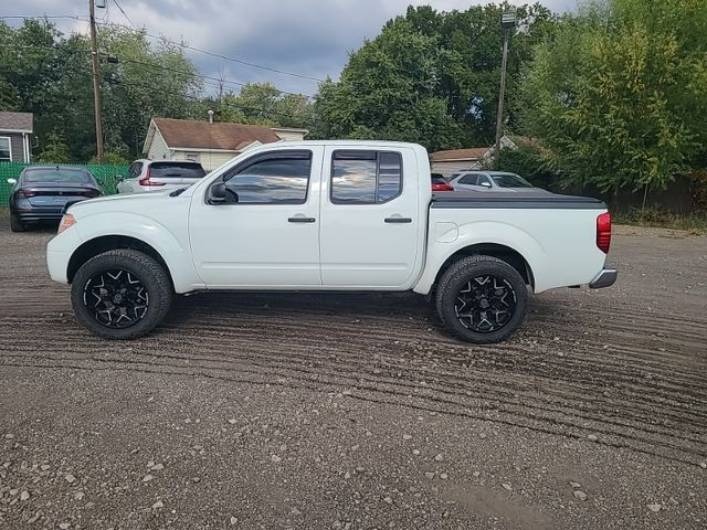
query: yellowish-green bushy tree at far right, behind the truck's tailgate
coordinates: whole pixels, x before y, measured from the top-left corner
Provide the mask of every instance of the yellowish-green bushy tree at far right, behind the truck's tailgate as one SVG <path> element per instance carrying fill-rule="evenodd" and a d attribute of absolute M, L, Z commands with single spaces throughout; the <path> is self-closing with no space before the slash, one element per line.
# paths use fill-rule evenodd
<path fill-rule="evenodd" d="M 525 130 L 567 183 L 665 189 L 705 160 L 706 33 L 703 0 L 606 0 L 567 17 L 525 73 Z"/>

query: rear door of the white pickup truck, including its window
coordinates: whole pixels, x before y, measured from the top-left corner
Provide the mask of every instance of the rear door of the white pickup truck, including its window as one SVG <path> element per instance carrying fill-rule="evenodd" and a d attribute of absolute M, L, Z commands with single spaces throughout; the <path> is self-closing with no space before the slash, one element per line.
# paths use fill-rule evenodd
<path fill-rule="evenodd" d="M 408 287 L 420 246 L 416 169 L 414 151 L 404 147 L 326 148 L 319 229 L 325 286 Z"/>

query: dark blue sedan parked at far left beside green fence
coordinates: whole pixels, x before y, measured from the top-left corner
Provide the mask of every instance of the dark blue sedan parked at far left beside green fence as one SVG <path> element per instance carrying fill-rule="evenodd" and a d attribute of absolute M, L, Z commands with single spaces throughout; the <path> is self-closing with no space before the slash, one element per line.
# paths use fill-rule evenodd
<path fill-rule="evenodd" d="M 32 166 L 18 179 L 8 179 L 10 229 L 23 232 L 30 223 L 59 222 L 70 202 L 85 201 L 102 194 L 93 174 L 83 168 Z"/>

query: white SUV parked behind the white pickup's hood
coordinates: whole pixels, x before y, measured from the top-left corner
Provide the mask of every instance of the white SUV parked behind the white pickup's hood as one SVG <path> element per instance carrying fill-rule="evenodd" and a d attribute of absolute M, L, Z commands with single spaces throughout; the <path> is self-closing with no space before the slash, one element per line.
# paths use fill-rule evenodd
<path fill-rule="evenodd" d="M 191 160 L 136 160 L 117 189 L 118 193 L 167 191 L 199 182 L 204 174 L 201 165 Z"/>

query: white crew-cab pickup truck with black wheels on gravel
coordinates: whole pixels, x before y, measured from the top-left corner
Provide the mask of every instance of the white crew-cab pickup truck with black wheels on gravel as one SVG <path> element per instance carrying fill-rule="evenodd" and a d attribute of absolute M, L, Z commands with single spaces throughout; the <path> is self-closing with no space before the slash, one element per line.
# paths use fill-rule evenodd
<path fill-rule="evenodd" d="M 175 294 L 413 290 L 454 335 L 489 343 L 520 326 L 528 288 L 612 285 L 610 240 L 595 199 L 433 194 L 421 146 L 289 141 L 189 188 L 74 204 L 46 259 L 107 339 L 148 333 Z"/>

